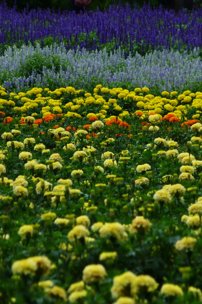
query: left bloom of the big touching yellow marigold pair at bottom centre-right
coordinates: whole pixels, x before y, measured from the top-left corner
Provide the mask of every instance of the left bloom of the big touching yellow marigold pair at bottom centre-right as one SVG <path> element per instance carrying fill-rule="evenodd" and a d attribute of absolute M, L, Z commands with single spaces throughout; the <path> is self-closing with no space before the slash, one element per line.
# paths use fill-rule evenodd
<path fill-rule="evenodd" d="M 116 275 L 113 278 L 113 285 L 111 294 L 113 298 L 123 297 L 130 291 L 130 296 L 134 297 L 136 294 L 136 286 L 134 284 L 136 275 L 131 271 L 126 271 L 122 275 Z M 129 287 L 129 288 L 128 288 Z"/>

